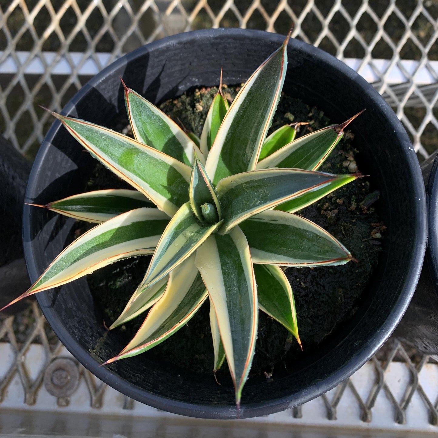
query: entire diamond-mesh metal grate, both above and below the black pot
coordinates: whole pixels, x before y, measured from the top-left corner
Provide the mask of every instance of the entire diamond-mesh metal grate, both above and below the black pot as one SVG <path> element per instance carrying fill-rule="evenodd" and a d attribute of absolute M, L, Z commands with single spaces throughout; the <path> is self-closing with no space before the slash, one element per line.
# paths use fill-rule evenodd
<path fill-rule="evenodd" d="M 0 0 L 0 131 L 32 157 L 52 123 L 38 105 L 59 111 L 93 74 L 124 53 L 199 28 L 284 34 L 292 20 L 294 37 L 332 53 L 373 83 L 403 122 L 420 160 L 438 149 L 437 0 Z M 23 400 L 23 406 L 33 406 L 40 400 L 47 366 L 67 355 L 66 350 L 35 303 L 17 317 L 0 321 L 0 340 L 0 408 L 17 408 Z M 438 386 L 432 385 L 438 364 L 408 353 L 396 341 L 383 350 L 329 394 L 293 408 L 280 421 L 305 424 L 314 412 L 308 406 L 319 403 L 321 418 L 352 418 L 350 423 L 345 420 L 349 427 L 415 426 L 412 413 L 423 415 L 424 424 L 438 425 Z M 38 360 L 31 366 L 35 351 Z M 112 393 L 106 397 L 113 390 L 78 367 L 89 396 L 87 406 L 102 411 L 111 400 L 120 406 L 107 408 L 108 413 L 152 415 L 132 400 Z M 19 405 L 13 402 L 17 391 L 8 391 L 13 385 L 23 390 Z M 382 396 L 389 408 L 381 407 Z M 74 397 L 58 398 L 55 407 L 68 409 Z M 353 416 L 346 417 L 346 400 L 357 407 Z M 379 415 L 388 421 L 379 422 Z M 315 419 L 311 424 L 318 423 Z"/>

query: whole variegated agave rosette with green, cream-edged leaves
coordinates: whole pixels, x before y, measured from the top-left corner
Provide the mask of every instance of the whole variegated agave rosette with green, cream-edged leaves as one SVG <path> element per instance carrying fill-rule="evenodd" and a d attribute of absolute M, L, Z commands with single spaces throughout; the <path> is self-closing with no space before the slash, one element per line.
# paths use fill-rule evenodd
<path fill-rule="evenodd" d="M 258 309 L 300 342 L 293 293 L 279 266 L 352 260 L 336 238 L 293 214 L 358 177 L 316 171 L 351 119 L 296 140 L 293 126 L 265 138 L 286 75 L 288 38 L 230 107 L 219 87 L 200 140 L 126 87 L 135 140 L 54 114 L 137 191 L 92 191 L 44 205 L 99 225 L 65 248 L 17 300 L 114 261 L 152 254 L 142 283 L 110 329 L 152 309 L 131 342 L 106 364 L 161 343 L 209 298 L 214 371 L 226 357 L 239 405 Z"/>

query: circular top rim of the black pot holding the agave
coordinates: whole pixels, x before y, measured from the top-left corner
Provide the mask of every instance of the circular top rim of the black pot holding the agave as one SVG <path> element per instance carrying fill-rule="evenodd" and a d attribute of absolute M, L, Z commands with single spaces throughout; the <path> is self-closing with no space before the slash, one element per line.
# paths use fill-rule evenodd
<path fill-rule="evenodd" d="M 110 64 L 104 70 L 102 70 L 99 74 L 97 74 L 94 78 L 87 82 L 75 95 L 74 97 L 67 103 L 64 107 L 62 114 L 68 114 L 75 110 L 75 105 L 82 99 L 86 90 L 94 87 L 99 82 L 101 82 L 106 76 L 110 75 L 118 69 L 119 67 L 123 67 L 130 60 L 141 56 L 145 53 L 150 52 L 151 50 L 160 50 L 165 49 L 169 43 L 178 43 L 184 42 L 187 40 L 191 40 L 193 38 L 201 38 L 208 41 L 208 39 L 212 39 L 214 37 L 218 37 L 220 35 L 226 34 L 228 37 L 242 36 L 242 35 L 251 35 L 251 37 L 256 37 L 260 39 L 269 39 L 274 42 L 278 42 L 280 45 L 283 42 L 284 36 L 279 34 L 273 34 L 265 31 L 258 30 L 248 30 L 248 29 L 237 29 L 237 28 L 226 28 L 226 29 L 205 29 L 198 30 L 192 32 L 181 33 L 178 35 L 169 36 L 158 41 L 149 43 L 145 46 L 142 46 L 131 53 L 128 53 L 124 57 L 119 58 L 113 64 Z M 289 42 L 291 44 L 291 40 Z M 357 72 L 352 70 L 343 62 L 337 60 L 335 57 L 330 55 L 329 53 L 324 52 L 321 49 L 318 49 L 314 46 L 311 46 L 305 42 L 294 39 L 293 40 L 294 49 L 300 50 L 301 52 L 306 53 L 307 56 L 317 58 L 323 64 L 331 64 L 332 67 L 336 67 L 343 75 L 348 77 L 351 81 L 355 81 L 364 93 L 367 93 L 369 97 L 372 99 L 373 103 L 376 106 L 379 106 L 382 111 L 385 112 L 385 115 L 388 119 L 390 126 L 397 128 L 397 135 L 400 138 L 400 143 L 410 143 L 409 138 L 407 137 L 406 131 L 403 128 L 403 125 L 396 117 L 396 114 L 392 111 L 391 107 L 383 100 L 381 95 L 370 85 L 367 81 L 364 80 Z M 48 133 L 46 134 L 44 145 L 39 149 L 38 154 L 35 158 L 34 166 L 32 167 L 32 172 L 28 181 L 28 188 L 26 192 L 26 197 L 29 197 L 30 187 L 35 184 L 38 173 L 43 168 L 43 162 L 45 155 L 49 149 L 51 141 L 53 140 L 55 134 L 57 133 L 59 127 L 61 126 L 60 122 L 56 120 Z M 335 371 L 329 378 L 316 382 L 311 387 L 307 388 L 306 391 L 301 391 L 296 394 L 293 394 L 289 397 L 282 397 L 279 399 L 270 400 L 269 402 L 261 402 L 261 403 L 253 403 L 244 405 L 240 408 L 240 417 L 254 417 L 257 415 L 266 415 L 269 413 L 275 413 L 279 410 L 284 410 L 293 406 L 300 405 L 305 403 L 317 396 L 319 396 L 323 392 L 327 392 L 330 389 L 334 388 L 336 385 L 339 385 L 346 378 L 350 377 L 354 372 L 356 372 L 360 367 L 362 367 L 367 360 L 369 360 L 374 353 L 382 346 L 382 344 L 389 338 L 392 331 L 396 328 L 396 325 L 399 323 L 402 318 L 406 308 L 410 302 L 410 299 L 413 295 L 415 287 L 418 282 L 418 278 L 420 276 L 421 266 L 423 263 L 424 252 L 426 247 L 426 234 L 427 234 L 427 219 L 426 219 L 426 199 L 424 192 L 424 184 L 423 179 L 420 172 L 420 166 L 418 165 L 417 157 L 415 152 L 406 153 L 406 163 L 410 167 L 410 171 L 413 176 L 414 185 L 415 185 L 415 195 L 418 200 L 415 203 L 415 217 L 417 218 L 417 228 L 412 230 L 413 240 L 417 243 L 413 248 L 413 257 L 411 258 L 411 264 L 408 270 L 411 272 L 411 275 L 407 276 L 403 290 L 404 293 L 400 294 L 398 300 L 394 303 L 391 311 L 389 311 L 388 317 L 385 321 L 385 325 L 382 329 L 378 330 L 374 333 L 374 336 L 368 340 L 368 345 L 371 345 L 371 348 L 362 349 L 355 357 L 354 361 L 350 361 L 350 363 L 345 364 L 345 366 L 337 371 Z M 28 267 L 29 276 L 31 279 L 36 279 L 39 276 L 37 271 L 35 261 L 32 256 L 32 249 L 30 246 L 31 242 L 31 234 L 30 234 L 30 206 L 25 205 L 23 211 L 23 243 L 25 248 L 25 259 Z M 37 300 L 39 304 L 42 304 L 43 298 L 37 294 Z M 47 304 L 44 302 L 44 304 Z M 46 317 L 49 325 L 53 328 L 54 332 L 64 344 L 64 346 L 69 350 L 73 356 L 92 372 L 97 378 L 113 387 L 116 390 L 123 391 L 124 394 L 127 394 L 133 399 L 142 399 L 145 400 L 145 393 L 148 394 L 147 404 L 153 406 L 155 408 L 161 410 L 167 410 L 169 412 L 177 413 L 180 415 L 188 415 L 191 417 L 200 417 L 200 418 L 234 418 L 236 417 L 237 411 L 235 409 L 230 409 L 228 406 L 205 406 L 198 405 L 194 403 L 183 403 L 180 401 L 176 401 L 174 399 L 168 399 L 163 396 L 157 396 L 152 392 L 147 392 L 144 389 L 139 389 L 137 385 L 129 381 L 125 381 L 120 378 L 117 374 L 113 373 L 106 367 L 99 367 L 99 363 L 91 357 L 89 352 L 85 349 L 78 348 L 78 345 L 75 339 L 71 336 L 71 334 L 65 329 L 60 317 L 56 312 L 53 312 L 52 309 L 48 306 L 42 306 L 42 312 Z"/>

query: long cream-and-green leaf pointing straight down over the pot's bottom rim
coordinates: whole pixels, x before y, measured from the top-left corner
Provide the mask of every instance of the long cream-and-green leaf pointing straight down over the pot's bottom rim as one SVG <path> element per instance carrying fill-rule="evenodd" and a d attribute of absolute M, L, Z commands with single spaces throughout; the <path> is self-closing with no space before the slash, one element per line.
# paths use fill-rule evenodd
<path fill-rule="evenodd" d="M 195 264 L 215 309 L 239 406 L 254 356 L 258 323 L 251 255 L 240 228 L 225 236 L 209 236 L 196 252 Z"/>

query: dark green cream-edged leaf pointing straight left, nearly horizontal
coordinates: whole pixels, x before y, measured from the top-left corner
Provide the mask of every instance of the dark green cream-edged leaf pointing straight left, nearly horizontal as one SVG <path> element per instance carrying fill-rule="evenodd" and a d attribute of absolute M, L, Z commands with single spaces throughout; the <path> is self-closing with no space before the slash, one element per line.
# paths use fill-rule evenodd
<path fill-rule="evenodd" d="M 96 190 L 75 194 L 46 205 L 30 205 L 45 207 L 61 215 L 93 223 L 105 222 L 136 208 L 155 208 L 155 205 L 140 192 L 124 189 Z"/>

